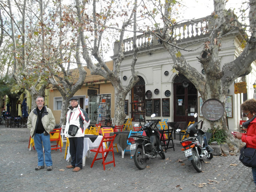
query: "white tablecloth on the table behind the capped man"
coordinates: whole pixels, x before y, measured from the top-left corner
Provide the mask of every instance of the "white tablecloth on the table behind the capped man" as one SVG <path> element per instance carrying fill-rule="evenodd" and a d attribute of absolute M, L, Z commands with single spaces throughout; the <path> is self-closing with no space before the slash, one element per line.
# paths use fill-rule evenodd
<path fill-rule="evenodd" d="M 90 149 L 98 148 L 100 146 L 100 142 L 102 140 L 103 136 L 99 135 L 97 136 L 96 140 L 94 142 L 91 141 L 90 138 L 87 138 L 86 135 L 84 137 L 84 151 L 83 151 L 83 166 L 85 166 L 85 157 L 88 156 L 88 150 L 90 154 Z M 106 148 L 105 144 L 103 144 L 103 148 Z M 70 152 L 69 152 L 69 146 L 68 146 L 68 154 L 66 161 L 70 158 Z"/>

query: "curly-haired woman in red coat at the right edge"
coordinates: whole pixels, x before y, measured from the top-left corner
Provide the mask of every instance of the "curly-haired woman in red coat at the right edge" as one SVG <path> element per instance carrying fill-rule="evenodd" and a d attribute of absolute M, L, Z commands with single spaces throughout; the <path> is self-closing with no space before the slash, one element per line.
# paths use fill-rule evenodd
<path fill-rule="evenodd" d="M 234 137 L 245 142 L 246 147 L 256 149 L 256 99 L 246 100 L 241 104 L 241 109 L 249 119 L 242 124 L 247 129 L 247 132 L 241 134 L 240 132 L 234 131 Z M 256 185 L 256 167 L 252 168 L 252 175 Z"/>

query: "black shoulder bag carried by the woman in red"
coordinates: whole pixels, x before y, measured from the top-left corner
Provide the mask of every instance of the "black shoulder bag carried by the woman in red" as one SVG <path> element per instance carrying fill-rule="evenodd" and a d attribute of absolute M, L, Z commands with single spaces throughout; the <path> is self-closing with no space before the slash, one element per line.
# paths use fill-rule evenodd
<path fill-rule="evenodd" d="M 239 160 L 247 167 L 256 167 L 256 149 L 245 145 L 240 150 Z"/>

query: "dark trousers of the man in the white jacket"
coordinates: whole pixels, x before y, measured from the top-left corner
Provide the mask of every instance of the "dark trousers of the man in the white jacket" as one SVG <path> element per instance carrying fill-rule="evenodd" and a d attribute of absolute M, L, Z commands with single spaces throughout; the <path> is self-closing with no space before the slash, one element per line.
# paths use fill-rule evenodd
<path fill-rule="evenodd" d="M 83 168 L 83 150 L 84 150 L 84 137 L 70 137 L 69 139 L 69 152 L 72 158 L 71 165 L 73 167 Z"/>

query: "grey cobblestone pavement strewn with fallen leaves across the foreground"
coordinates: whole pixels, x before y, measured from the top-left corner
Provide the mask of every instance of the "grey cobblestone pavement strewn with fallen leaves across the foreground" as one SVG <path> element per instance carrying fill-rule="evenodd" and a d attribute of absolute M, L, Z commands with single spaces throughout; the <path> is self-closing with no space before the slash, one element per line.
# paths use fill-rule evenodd
<path fill-rule="evenodd" d="M 28 140 L 28 129 L 0 126 L 0 191 L 256 191 L 252 170 L 240 163 L 238 156 L 214 156 L 209 163 L 203 163 L 204 172 L 198 173 L 180 146 L 175 147 L 175 152 L 168 149 L 165 160 L 149 160 L 144 170 L 136 168 L 129 152 L 124 158 L 121 152 L 115 152 L 116 167 L 109 164 L 104 171 L 101 162 L 96 161 L 90 168 L 93 153 L 82 170 L 72 172 L 66 168 L 70 162 L 64 160 L 64 144 L 62 152 L 52 151 L 52 171 L 36 171 L 37 153 L 29 151 Z"/>

